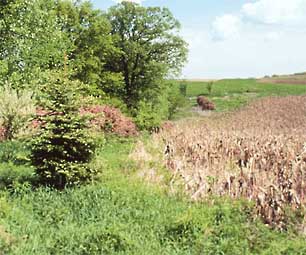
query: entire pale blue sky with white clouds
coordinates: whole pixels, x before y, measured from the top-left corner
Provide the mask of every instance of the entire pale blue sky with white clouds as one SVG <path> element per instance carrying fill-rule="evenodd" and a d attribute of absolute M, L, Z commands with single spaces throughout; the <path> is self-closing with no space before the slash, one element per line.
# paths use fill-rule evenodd
<path fill-rule="evenodd" d="M 306 71 L 306 0 L 130 0 L 168 7 L 189 44 L 181 78 Z M 107 10 L 120 0 L 92 0 Z"/>

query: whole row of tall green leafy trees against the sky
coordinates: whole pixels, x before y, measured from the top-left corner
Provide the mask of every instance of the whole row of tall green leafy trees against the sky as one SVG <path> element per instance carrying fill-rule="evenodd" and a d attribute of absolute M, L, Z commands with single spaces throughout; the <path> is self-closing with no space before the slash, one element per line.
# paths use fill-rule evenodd
<path fill-rule="evenodd" d="M 3 0 L 0 83 L 39 93 L 50 72 L 64 70 L 150 129 L 175 108 L 167 78 L 186 62 L 179 29 L 167 8 L 131 2 L 103 12 L 89 1 Z"/>

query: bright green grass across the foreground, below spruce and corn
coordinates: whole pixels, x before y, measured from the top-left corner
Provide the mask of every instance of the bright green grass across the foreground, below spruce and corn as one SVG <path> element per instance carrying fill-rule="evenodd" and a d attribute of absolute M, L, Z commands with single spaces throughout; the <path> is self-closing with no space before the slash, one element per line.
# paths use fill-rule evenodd
<path fill-rule="evenodd" d="M 2 191 L 0 254 L 305 254 L 305 238 L 254 220 L 247 202 L 193 203 L 135 179 L 134 144 L 107 139 L 95 163 L 99 182 Z"/>

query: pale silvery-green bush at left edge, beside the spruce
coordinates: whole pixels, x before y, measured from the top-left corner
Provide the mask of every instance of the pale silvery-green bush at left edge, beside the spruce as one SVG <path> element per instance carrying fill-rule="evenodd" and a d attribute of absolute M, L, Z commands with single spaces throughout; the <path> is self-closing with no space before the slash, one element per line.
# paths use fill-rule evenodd
<path fill-rule="evenodd" d="M 16 137 L 34 113 L 32 92 L 15 90 L 10 85 L 0 87 L 0 126 L 3 128 L 3 139 Z"/>

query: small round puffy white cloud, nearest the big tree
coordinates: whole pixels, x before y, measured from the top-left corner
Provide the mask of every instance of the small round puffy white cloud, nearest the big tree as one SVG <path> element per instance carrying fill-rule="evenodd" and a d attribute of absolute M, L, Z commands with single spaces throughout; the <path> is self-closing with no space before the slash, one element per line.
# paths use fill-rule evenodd
<path fill-rule="evenodd" d="M 215 18 L 212 24 L 214 39 L 226 40 L 235 38 L 241 29 L 241 20 L 238 16 L 226 14 Z"/>

